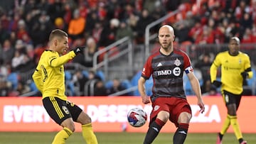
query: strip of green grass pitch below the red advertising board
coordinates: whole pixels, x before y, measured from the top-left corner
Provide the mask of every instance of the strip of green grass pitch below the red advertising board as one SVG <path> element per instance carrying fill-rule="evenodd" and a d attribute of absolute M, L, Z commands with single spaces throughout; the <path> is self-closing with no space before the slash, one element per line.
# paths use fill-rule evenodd
<path fill-rule="evenodd" d="M 49 144 L 55 133 L 35 133 L 35 132 L 0 132 L 0 143 L 3 144 Z M 139 144 L 143 142 L 145 133 L 95 133 L 99 144 Z M 245 140 L 250 143 L 256 143 L 255 133 L 244 133 Z M 154 144 L 172 143 L 173 133 L 159 133 L 154 140 Z M 186 144 L 214 144 L 216 133 L 188 133 Z M 72 144 L 85 143 L 81 133 L 73 133 L 67 142 Z M 234 133 L 227 133 L 224 136 L 223 143 L 235 144 L 238 141 Z"/>

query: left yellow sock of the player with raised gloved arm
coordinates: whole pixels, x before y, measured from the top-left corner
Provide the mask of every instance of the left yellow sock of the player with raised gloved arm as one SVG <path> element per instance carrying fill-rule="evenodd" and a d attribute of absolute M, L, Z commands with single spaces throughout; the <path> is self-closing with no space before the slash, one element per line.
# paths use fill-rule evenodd
<path fill-rule="evenodd" d="M 68 128 L 63 128 L 63 130 L 59 131 L 54 139 L 52 144 L 64 144 L 65 140 L 68 139 L 70 135 L 72 135 L 73 131 Z"/>

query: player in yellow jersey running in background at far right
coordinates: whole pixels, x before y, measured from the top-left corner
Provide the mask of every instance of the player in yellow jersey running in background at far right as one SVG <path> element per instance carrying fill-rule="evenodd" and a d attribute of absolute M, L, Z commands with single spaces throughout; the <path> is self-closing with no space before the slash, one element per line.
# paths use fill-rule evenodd
<path fill-rule="evenodd" d="M 221 67 L 221 81 L 216 80 L 217 69 Z M 223 128 L 218 133 L 217 144 L 221 144 L 223 135 L 228 127 L 233 126 L 235 136 L 240 144 L 247 144 L 242 138 L 242 133 L 237 119 L 238 106 L 242 96 L 242 81 L 252 77 L 250 57 L 240 52 L 240 40 L 237 37 L 230 38 L 228 51 L 216 55 L 210 67 L 210 80 L 215 87 L 221 86 L 221 93 L 228 116 L 225 118 Z"/>

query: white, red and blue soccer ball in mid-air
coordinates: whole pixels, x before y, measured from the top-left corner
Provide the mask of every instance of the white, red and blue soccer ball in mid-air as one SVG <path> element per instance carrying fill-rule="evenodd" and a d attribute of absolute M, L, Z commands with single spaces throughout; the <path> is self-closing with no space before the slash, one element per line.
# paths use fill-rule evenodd
<path fill-rule="evenodd" d="M 128 111 L 128 122 L 133 127 L 141 127 L 146 123 L 146 112 L 140 108 L 133 108 Z"/>

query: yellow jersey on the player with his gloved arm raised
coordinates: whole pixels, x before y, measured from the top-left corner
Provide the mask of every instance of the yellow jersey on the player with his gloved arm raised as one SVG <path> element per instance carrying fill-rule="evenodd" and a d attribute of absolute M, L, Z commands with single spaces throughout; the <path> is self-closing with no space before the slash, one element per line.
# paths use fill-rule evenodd
<path fill-rule="evenodd" d="M 67 100 L 65 96 L 65 73 L 64 64 L 75 57 L 75 52 L 70 51 L 66 55 L 59 56 L 58 52 L 45 50 L 38 62 L 33 81 L 43 98 L 47 96 L 57 96 Z"/>

